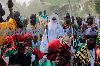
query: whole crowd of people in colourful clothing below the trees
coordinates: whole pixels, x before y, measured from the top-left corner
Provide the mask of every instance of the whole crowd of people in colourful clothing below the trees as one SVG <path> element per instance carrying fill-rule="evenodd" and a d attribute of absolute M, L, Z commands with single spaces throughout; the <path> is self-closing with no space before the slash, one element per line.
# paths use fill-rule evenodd
<path fill-rule="evenodd" d="M 0 4 L 0 66 L 100 66 L 100 16 L 4 15 Z"/>

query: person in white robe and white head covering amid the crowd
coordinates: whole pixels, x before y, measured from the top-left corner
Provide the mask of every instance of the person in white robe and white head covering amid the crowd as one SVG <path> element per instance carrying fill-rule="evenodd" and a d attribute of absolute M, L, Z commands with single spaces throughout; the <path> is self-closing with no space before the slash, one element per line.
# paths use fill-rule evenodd
<path fill-rule="evenodd" d="M 45 29 L 44 35 L 42 37 L 40 50 L 47 53 L 47 44 L 48 42 L 63 36 L 64 30 L 60 25 L 60 20 L 58 15 L 53 14 L 50 17 L 50 22 L 48 23 L 47 28 Z"/>

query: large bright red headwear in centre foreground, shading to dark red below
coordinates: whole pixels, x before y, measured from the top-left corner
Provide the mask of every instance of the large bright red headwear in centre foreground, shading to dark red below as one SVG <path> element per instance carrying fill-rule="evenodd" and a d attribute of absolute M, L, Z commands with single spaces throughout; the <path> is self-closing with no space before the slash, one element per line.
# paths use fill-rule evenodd
<path fill-rule="evenodd" d="M 62 46 L 58 39 L 55 39 L 48 43 L 48 55 L 47 58 L 54 61 L 57 56 L 57 50 Z"/>

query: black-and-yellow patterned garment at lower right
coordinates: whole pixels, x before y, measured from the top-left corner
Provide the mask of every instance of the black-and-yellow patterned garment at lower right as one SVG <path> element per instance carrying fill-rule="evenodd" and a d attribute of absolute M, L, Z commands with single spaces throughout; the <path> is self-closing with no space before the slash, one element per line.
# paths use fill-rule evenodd
<path fill-rule="evenodd" d="M 89 64 L 90 62 L 90 54 L 89 50 L 87 49 L 87 45 L 81 45 L 77 50 L 76 57 L 78 57 L 81 63 Z"/>

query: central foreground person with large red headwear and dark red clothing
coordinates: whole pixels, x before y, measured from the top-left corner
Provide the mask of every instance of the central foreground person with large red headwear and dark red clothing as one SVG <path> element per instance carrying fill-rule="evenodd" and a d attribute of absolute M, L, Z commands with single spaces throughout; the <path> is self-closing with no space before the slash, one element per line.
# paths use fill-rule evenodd
<path fill-rule="evenodd" d="M 61 44 L 58 39 L 54 39 L 48 43 L 48 60 L 45 60 L 41 65 L 66 66 L 70 61 L 70 57 L 71 53 L 68 45 Z"/>

